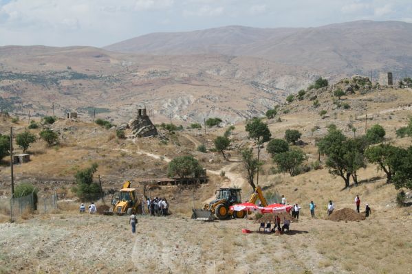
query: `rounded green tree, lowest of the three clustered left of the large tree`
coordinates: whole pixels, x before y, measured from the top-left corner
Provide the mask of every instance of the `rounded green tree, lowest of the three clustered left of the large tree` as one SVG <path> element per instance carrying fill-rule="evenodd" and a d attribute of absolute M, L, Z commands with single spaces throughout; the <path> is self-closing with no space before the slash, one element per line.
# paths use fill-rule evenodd
<path fill-rule="evenodd" d="M 290 176 L 299 174 L 301 164 L 305 160 L 305 152 L 299 148 L 292 148 L 273 157 L 273 161 L 277 164 L 279 170 L 281 172 L 289 172 Z"/>

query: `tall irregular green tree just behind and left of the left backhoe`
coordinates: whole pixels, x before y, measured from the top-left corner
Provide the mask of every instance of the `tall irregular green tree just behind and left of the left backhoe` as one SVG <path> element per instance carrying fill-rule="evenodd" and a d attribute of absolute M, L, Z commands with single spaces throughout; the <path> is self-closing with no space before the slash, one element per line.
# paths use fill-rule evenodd
<path fill-rule="evenodd" d="M 78 170 L 74 175 L 76 179 L 77 196 L 82 200 L 94 200 L 100 194 L 100 186 L 93 182 L 94 173 L 97 171 L 97 163 L 93 163 L 89 168 Z"/>

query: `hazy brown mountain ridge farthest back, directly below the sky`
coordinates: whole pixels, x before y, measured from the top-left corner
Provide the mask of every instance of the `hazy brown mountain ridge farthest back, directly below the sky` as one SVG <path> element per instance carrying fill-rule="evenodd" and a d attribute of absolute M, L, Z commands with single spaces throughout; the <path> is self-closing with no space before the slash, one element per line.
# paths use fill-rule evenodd
<path fill-rule="evenodd" d="M 412 24 L 355 21 L 309 28 L 228 26 L 195 32 L 155 33 L 105 47 L 138 54 L 256 56 L 333 73 L 412 71 Z M 403 74 L 402 74 L 403 75 Z"/>

